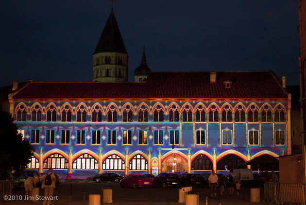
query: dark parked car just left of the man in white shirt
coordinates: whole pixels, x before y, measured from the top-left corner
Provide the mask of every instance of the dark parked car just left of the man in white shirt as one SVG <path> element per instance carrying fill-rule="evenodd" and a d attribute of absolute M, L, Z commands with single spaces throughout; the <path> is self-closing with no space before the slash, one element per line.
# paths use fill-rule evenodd
<path fill-rule="evenodd" d="M 204 178 L 200 174 L 194 173 L 184 173 L 179 176 L 179 186 L 180 187 L 203 187 Z"/>

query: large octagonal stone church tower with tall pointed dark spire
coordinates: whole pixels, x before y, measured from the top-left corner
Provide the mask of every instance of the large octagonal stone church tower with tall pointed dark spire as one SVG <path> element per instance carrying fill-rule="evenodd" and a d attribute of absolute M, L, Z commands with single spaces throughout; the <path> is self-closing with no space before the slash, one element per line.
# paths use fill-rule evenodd
<path fill-rule="evenodd" d="M 127 82 L 128 59 L 112 8 L 93 54 L 93 81 Z"/>

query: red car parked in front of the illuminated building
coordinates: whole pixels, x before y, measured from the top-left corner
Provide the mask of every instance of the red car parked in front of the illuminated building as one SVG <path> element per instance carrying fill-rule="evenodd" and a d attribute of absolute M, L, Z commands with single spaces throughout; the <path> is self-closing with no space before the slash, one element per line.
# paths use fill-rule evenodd
<path fill-rule="evenodd" d="M 151 178 L 145 175 L 129 175 L 120 181 L 120 186 L 123 187 L 143 187 L 143 186 L 153 186 L 153 181 Z"/>

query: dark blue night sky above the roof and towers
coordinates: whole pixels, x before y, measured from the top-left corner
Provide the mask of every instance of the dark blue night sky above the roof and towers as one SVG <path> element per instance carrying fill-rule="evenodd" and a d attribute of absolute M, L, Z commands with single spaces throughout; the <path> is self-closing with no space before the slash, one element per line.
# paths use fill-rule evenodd
<path fill-rule="evenodd" d="M 107 0 L 0 0 L 0 87 L 90 82 Z M 129 81 L 155 72 L 274 71 L 298 85 L 297 0 L 117 0 Z"/>

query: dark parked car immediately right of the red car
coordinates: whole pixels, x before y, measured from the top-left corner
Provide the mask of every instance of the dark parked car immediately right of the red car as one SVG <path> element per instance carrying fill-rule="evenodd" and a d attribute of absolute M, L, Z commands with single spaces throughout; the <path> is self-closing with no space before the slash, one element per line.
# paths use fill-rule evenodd
<path fill-rule="evenodd" d="M 160 173 L 153 179 L 153 187 L 177 187 L 179 175 L 176 173 Z"/>

